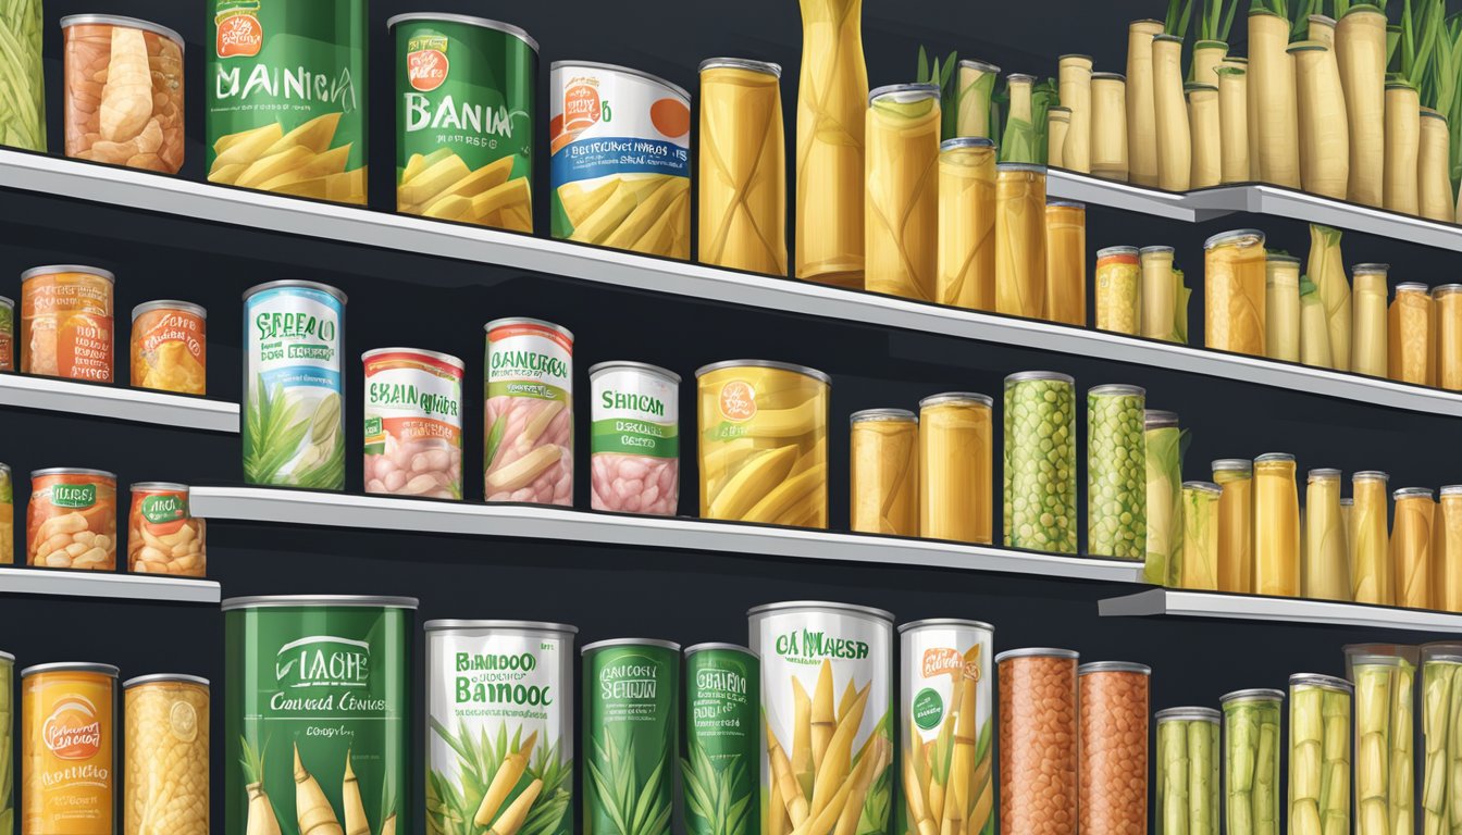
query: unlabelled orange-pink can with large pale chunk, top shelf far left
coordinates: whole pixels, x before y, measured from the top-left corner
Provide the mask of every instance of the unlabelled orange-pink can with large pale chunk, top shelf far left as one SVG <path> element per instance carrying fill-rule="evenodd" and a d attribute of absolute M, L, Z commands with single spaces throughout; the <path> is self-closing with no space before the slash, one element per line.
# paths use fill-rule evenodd
<path fill-rule="evenodd" d="M 113 15 L 61 18 L 66 155 L 177 174 L 183 167 L 183 37 Z"/>

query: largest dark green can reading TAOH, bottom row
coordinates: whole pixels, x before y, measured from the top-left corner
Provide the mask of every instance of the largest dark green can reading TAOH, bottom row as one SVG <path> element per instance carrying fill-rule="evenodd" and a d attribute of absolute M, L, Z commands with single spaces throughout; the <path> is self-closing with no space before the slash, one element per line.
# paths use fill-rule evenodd
<path fill-rule="evenodd" d="M 414 598 L 224 601 L 227 835 L 411 835 Z"/>

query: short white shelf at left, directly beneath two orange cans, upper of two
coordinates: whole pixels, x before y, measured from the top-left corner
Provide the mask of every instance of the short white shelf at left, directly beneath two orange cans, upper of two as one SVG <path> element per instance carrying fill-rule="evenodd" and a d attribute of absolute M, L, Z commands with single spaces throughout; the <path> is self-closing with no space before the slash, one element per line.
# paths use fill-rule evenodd
<path fill-rule="evenodd" d="M 0 405 L 238 433 L 238 404 L 53 377 L 0 374 Z"/>

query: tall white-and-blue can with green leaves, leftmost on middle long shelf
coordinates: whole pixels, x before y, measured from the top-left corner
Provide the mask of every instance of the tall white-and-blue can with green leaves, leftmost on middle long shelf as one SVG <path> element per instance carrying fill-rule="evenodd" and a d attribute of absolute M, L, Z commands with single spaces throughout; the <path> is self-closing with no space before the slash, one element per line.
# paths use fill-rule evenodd
<path fill-rule="evenodd" d="M 244 480 L 345 488 L 345 294 L 313 281 L 244 291 Z"/>

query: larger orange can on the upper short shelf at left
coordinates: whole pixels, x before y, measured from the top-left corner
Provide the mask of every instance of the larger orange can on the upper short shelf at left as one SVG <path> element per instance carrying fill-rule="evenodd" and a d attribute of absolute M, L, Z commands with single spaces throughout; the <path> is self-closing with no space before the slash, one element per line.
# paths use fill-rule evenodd
<path fill-rule="evenodd" d="M 91 383 L 113 380 L 115 276 L 77 265 L 20 273 L 20 373 Z"/>

